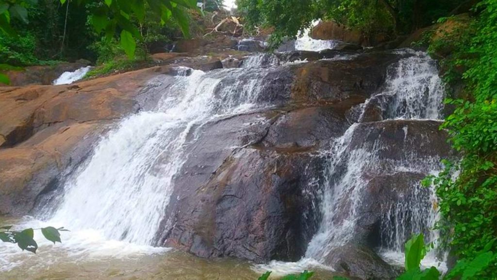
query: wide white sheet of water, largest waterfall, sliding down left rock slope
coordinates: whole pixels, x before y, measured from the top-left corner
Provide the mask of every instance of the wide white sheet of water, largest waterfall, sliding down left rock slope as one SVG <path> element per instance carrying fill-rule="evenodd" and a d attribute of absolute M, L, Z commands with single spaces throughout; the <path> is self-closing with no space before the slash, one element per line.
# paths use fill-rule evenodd
<path fill-rule="evenodd" d="M 255 58 L 254 60 L 257 60 Z M 50 219 L 72 230 L 91 228 L 111 240 L 153 245 L 185 158 L 187 136 L 216 117 L 257 106 L 268 70 L 181 67 L 152 111 L 122 121 L 65 185 Z M 162 86 L 161 77 L 154 83 Z M 257 105 L 256 105 L 257 104 Z"/>

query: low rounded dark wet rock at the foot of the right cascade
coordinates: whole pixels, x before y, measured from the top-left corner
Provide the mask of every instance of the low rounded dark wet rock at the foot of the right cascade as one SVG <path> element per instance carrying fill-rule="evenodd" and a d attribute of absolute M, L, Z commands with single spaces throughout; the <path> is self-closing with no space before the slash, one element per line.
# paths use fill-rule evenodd
<path fill-rule="evenodd" d="M 361 245 L 345 245 L 334 249 L 326 257 L 325 263 L 338 273 L 363 280 L 393 280 L 399 274 L 370 248 Z"/>

